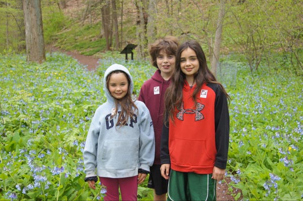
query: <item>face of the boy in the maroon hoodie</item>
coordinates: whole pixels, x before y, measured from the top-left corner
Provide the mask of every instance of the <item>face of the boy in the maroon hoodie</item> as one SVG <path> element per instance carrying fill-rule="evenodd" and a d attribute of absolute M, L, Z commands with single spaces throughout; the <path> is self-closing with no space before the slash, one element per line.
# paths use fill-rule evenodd
<path fill-rule="evenodd" d="M 175 70 L 176 56 L 168 55 L 161 50 L 157 56 L 158 69 L 161 71 L 161 76 L 164 79 L 169 79 Z"/>

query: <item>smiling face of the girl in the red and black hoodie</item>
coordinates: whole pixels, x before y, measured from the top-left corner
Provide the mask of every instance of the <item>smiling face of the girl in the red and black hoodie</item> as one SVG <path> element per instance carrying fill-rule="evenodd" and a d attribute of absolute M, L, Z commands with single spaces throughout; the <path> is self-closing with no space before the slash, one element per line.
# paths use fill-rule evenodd
<path fill-rule="evenodd" d="M 193 80 L 194 75 L 199 70 L 199 61 L 197 55 L 189 47 L 181 52 L 180 68 L 181 71 L 185 74 L 186 80 Z"/>

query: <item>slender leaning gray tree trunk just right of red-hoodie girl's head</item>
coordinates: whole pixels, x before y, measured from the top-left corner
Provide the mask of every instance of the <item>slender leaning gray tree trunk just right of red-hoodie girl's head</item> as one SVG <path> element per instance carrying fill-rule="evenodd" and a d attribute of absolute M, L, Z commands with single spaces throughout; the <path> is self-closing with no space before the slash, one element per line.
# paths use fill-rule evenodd
<path fill-rule="evenodd" d="M 211 71 L 216 76 L 217 74 L 217 65 L 220 58 L 220 45 L 221 45 L 221 37 L 222 37 L 222 27 L 223 27 L 223 20 L 225 15 L 225 0 L 220 0 L 220 10 L 219 16 L 217 21 L 217 29 L 215 35 L 215 44 L 213 48 L 213 57 L 211 60 Z"/>

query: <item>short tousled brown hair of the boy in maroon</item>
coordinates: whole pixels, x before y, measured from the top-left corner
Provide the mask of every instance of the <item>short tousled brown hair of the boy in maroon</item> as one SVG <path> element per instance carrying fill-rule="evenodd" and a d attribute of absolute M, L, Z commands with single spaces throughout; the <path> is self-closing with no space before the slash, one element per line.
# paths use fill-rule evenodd
<path fill-rule="evenodd" d="M 176 55 L 178 45 L 178 39 L 174 36 L 166 36 L 150 44 L 149 54 L 151 58 L 151 64 L 153 64 L 158 69 L 157 57 L 159 56 L 160 51 L 163 50 L 169 55 Z"/>

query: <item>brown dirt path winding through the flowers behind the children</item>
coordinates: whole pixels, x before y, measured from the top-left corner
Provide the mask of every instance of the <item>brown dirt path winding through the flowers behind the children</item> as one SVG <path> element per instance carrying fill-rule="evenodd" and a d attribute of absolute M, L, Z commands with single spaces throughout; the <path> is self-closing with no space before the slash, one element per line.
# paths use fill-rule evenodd
<path fill-rule="evenodd" d="M 94 58 L 93 56 L 84 56 L 75 52 L 70 52 L 70 51 L 64 51 L 60 50 L 55 47 L 47 47 L 47 51 L 60 51 L 63 53 L 66 53 L 67 55 L 72 56 L 73 58 L 77 59 L 79 63 L 85 65 L 89 71 L 95 71 L 96 67 L 98 65 L 98 58 Z M 226 178 L 226 182 L 230 182 L 230 178 Z M 228 191 L 228 185 L 226 182 L 221 182 L 221 184 L 217 183 L 217 200 L 218 201 L 223 201 L 223 200 L 235 200 L 234 197 L 231 195 L 231 193 Z M 233 189 L 233 194 L 237 194 L 240 192 L 239 189 Z M 242 196 L 241 196 L 242 197 Z M 240 199 L 241 199 L 240 197 Z"/>

